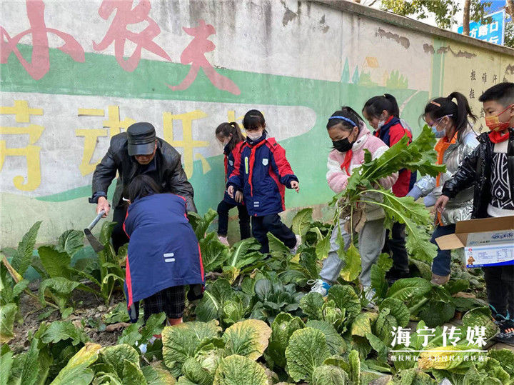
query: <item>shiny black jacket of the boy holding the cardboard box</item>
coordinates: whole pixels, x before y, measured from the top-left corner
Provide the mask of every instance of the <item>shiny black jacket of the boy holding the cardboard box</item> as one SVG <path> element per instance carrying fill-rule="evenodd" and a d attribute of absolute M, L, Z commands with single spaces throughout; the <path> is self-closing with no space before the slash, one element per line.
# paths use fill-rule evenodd
<path fill-rule="evenodd" d="M 473 196 L 472 219 L 486 218 L 487 209 L 491 201 L 490 177 L 491 164 L 493 162 L 494 143 L 489 139 L 489 133 L 480 134 L 477 137 L 479 142 L 475 150 L 465 157 L 458 171 L 453 174 L 452 179 L 446 181 L 442 194 L 450 199 L 454 198 L 460 191 L 475 185 Z M 514 129 L 509 129 L 507 145 L 507 169 L 510 181 L 510 194 L 514 196 Z"/>

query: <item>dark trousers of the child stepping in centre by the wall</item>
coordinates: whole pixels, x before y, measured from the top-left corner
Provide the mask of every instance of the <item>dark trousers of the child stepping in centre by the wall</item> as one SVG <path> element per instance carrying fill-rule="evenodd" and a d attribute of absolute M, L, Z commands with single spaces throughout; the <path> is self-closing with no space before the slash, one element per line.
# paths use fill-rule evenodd
<path fill-rule="evenodd" d="M 280 239 L 288 248 L 296 246 L 296 236 L 285 224 L 278 214 L 265 216 L 252 216 L 252 234 L 261 243 L 261 253 L 269 252 L 268 231 Z"/>

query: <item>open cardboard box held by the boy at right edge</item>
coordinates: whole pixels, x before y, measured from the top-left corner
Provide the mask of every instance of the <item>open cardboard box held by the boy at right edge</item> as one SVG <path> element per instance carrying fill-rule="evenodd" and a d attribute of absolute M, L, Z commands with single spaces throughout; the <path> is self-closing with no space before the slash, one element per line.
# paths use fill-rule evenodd
<path fill-rule="evenodd" d="M 441 250 L 464 248 L 467 267 L 514 264 L 514 216 L 458 222 L 455 234 L 435 239 Z"/>

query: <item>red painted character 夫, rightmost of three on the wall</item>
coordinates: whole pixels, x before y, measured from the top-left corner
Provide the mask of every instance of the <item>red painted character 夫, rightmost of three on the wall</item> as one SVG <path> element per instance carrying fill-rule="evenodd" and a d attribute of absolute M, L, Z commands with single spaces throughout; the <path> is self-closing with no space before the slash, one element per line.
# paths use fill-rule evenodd
<path fill-rule="evenodd" d="M 216 48 L 214 43 L 209 41 L 207 38 L 208 36 L 216 34 L 216 30 L 211 26 L 211 24 L 205 24 L 205 21 L 203 20 L 198 21 L 198 23 L 200 25 L 196 28 L 182 28 L 186 34 L 194 36 L 193 41 L 186 46 L 186 49 L 184 49 L 181 54 L 181 63 L 191 63 L 191 69 L 181 84 L 178 84 L 178 86 L 168 85 L 168 87 L 173 91 L 188 89 L 196 79 L 198 70 L 203 69 L 203 72 L 207 75 L 208 79 L 211 80 L 212 84 L 216 86 L 216 88 L 231 92 L 235 95 L 241 94 L 238 86 L 236 86 L 231 79 L 218 74 L 211 63 L 206 59 L 206 52 L 213 51 Z"/>

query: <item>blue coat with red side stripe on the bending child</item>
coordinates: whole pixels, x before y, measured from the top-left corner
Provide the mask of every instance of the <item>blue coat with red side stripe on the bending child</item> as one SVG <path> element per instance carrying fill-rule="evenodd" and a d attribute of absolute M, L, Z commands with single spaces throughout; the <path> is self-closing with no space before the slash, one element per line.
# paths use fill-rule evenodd
<path fill-rule="evenodd" d="M 127 307 L 171 286 L 203 284 L 200 246 L 186 216 L 186 199 L 155 194 L 136 199 L 127 211 L 129 236 Z"/>

